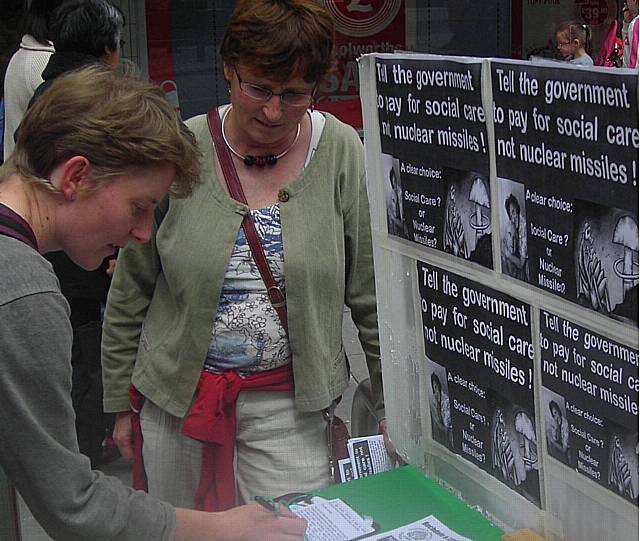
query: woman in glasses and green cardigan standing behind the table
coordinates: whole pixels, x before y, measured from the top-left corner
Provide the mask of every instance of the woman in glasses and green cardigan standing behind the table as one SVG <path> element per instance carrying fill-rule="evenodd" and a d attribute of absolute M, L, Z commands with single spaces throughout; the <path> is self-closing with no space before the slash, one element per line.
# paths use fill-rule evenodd
<path fill-rule="evenodd" d="M 157 213 L 150 244 L 121 252 L 103 337 L 122 454 L 132 383 L 149 491 L 205 509 L 330 482 L 323 410 L 349 380 L 344 304 L 386 434 L 363 147 L 311 108 L 334 63 L 332 19 L 314 0 L 241 0 L 221 54 L 220 146 L 248 204 L 228 193 L 206 116 L 188 121 L 202 183 Z M 249 212 L 284 318 L 241 227 Z"/>

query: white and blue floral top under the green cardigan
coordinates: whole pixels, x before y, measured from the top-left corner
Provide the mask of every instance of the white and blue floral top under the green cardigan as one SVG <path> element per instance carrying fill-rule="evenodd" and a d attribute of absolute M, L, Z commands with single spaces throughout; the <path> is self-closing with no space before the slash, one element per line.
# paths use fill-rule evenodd
<path fill-rule="evenodd" d="M 284 293 L 284 250 L 280 207 L 252 210 L 275 281 Z M 222 285 L 205 370 L 240 374 L 279 368 L 291 362 L 287 335 L 271 306 L 260 271 L 241 227 Z"/>

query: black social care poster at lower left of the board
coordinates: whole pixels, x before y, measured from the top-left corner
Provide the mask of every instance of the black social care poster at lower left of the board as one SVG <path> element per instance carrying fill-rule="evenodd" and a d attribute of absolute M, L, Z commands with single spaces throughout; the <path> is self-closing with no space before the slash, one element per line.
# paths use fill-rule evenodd
<path fill-rule="evenodd" d="M 433 439 L 539 507 L 529 305 L 417 267 Z"/>

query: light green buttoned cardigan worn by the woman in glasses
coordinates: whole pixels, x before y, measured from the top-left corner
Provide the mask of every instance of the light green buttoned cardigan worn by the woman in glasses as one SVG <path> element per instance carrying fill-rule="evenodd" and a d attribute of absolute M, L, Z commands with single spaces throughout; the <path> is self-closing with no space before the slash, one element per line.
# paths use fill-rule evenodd
<path fill-rule="evenodd" d="M 300 176 L 279 194 L 289 342 L 296 406 L 318 411 L 349 381 L 342 344 L 351 308 L 384 415 L 364 152 L 356 132 L 331 115 Z M 120 252 L 102 338 L 105 411 L 127 411 L 133 384 L 184 417 L 202 371 L 227 265 L 248 208 L 227 195 L 213 169 L 206 116 L 187 122 L 204 155 L 191 197 L 156 209 L 152 240 Z"/>

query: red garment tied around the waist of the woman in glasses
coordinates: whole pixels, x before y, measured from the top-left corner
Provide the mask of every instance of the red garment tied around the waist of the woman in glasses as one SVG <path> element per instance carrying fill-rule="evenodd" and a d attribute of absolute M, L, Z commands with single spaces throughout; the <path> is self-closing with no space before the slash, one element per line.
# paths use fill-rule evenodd
<path fill-rule="evenodd" d="M 195 509 L 224 511 L 236 504 L 233 456 L 236 437 L 236 401 L 240 391 L 290 391 L 293 388 L 291 364 L 246 377 L 241 377 L 233 371 L 221 374 L 202 372 L 195 399 L 181 430 L 183 435 L 204 444 L 200 482 L 194 501 Z M 135 455 L 133 487 L 146 490 L 147 478 L 142 460 L 142 429 L 137 413 L 144 403 L 144 397 L 133 386 L 129 390 L 129 396 L 134 410 L 131 415 Z"/>

